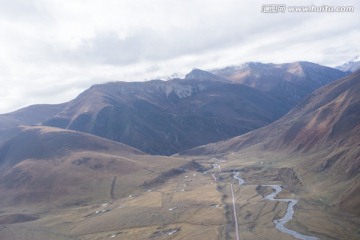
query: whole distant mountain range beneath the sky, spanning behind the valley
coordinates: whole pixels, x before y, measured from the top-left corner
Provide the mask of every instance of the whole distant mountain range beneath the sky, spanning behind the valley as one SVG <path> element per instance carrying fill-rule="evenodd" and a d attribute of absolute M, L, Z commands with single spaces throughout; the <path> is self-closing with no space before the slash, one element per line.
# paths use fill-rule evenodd
<path fill-rule="evenodd" d="M 41 124 L 170 155 L 263 127 L 344 75 L 307 62 L 249 63 L 213 73 L 194 69 L 184 79 L 94 85 L 68 103 L 0 115 L 7 126 L 0 127 L 0 143 L 18 125 Z"/>

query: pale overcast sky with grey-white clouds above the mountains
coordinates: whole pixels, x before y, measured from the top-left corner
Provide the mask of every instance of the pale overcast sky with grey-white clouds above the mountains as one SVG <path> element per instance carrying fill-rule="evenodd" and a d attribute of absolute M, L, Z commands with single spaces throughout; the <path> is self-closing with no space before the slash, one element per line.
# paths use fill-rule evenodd
<path fill-rule="evenodd" d="M 288 10 L 311 5 L 354 12 Z M 341 65 L 359 59 L 359 23 L 358 0 L 0 0 L 0 113 L 194 68 Z"/>

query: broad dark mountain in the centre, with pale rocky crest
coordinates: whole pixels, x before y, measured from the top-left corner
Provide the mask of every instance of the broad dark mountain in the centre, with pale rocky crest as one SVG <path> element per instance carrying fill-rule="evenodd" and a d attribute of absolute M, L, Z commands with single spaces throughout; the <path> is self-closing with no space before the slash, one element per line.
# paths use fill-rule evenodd
<path fill-rule="evenodd" d="M 208 77 L 113 82 L 91 87 L 43 125 L 169 155 L 262 127 L 289 108 L 270 94 Z"/>

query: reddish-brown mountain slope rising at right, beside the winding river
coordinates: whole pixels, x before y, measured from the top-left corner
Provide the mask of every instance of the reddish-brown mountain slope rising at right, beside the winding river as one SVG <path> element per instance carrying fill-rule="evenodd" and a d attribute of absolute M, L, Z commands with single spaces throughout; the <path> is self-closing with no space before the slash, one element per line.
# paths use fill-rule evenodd
<path fill-rule="evenodd" d="M 313 92 L 287 115 L 248 134 L 185 152 L 283 152 L 329 204 L 360 215 L 360 71 Z M 270 156 L 270 154 L 268 154 Z M 297 159 L 297 160 L 294 160 Z"/>

